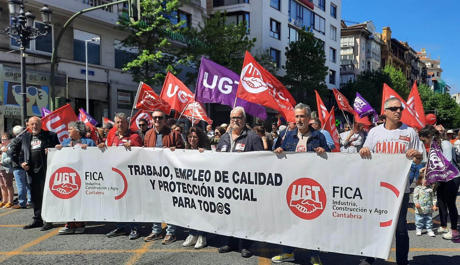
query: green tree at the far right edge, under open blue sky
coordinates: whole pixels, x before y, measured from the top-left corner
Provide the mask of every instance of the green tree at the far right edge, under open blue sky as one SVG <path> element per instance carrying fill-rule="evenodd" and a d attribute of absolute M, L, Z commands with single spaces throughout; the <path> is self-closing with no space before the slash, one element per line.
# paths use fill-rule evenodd
<path fill-rule="evenodd" d="M 434 93 L 426 84 L 419 87 L 420 99 L 424 110 L 437 110 L 437 124 L 445 128 L 457 128 L 460 126 L 460 105 L 450 97 L 449 93 Z M 432 111 L 426 112 L 433 113 Z"/>

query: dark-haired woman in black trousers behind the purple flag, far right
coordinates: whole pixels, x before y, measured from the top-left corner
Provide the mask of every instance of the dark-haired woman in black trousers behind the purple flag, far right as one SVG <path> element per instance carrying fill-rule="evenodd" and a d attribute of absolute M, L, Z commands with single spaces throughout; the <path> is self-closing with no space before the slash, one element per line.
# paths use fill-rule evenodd
<path fill-rule="evenodd" d="M 429 152 L 431 148 L 431 139 L 435 141 L 442 149 L 443 155 L 449 160 L 452 164 L 456 159 L 455 149 L 449 140 L 439 134 L 439 132 L 433 128 L 431 125 L 427 125 L 422 128 L 419 132 L 420 141 L 423 142 L 425 148 Z M 421 169 L 420 172 L 425 172 L 426 167 Z M 438 227 L 437 232 L 439 234 L 444 234 L 444 239 L 456 239 L 460 238 L 459 232 L 457 230 L 458 224 L 458 210 L 455 202 L 457 200 L 457 193 L 460 186 L 460 177 L 454 177 L 448 182 L 437 182 L 437 206 L 439 209 L 439 217 L 441 221 L 441 226 Z M 447 227 L 447 215 L 450 215 L 450 229 Z"/>

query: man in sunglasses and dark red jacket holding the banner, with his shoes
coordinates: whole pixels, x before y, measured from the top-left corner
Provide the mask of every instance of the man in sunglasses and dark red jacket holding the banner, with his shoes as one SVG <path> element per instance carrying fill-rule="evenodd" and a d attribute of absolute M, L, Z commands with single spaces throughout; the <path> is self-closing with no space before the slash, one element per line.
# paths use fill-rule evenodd
<path fill-rule="evenodd" d="M 171 130 L 166 126 L 165 113 L 155 110 L 152 113 L 153 128 L 147 132 L 144 138 L 144 147 L 169 148 L 171 150 L 184 149 L 185 144 L 177 130 Z M 168 120 L 169 121 L 169 120 Z M 176 226 L 167 224 L 166 237 L 161 244 L 171 244 L 176 241 Z M 163 238 L 161 234 L 161 223 L 153 223 L 152 232 L 144 238 L 145 242 L 155 241 Z"/>

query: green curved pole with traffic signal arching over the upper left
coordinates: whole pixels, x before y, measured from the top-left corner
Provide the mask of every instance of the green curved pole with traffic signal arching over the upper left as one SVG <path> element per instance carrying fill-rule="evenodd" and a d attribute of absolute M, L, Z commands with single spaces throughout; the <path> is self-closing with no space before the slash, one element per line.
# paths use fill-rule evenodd
<path fill-rule="evenodd" d="M 76 12 L 72 17 L 69 18 L 67 22 L 65 22 L 63 28 L 61 29 L 61 32 L 59 32 L 59 35 L 57 36 L 56 41 L 54 42 L 54 47 L 53 47 L 53 53 L 51 55 L 51 77 L 50 77 L 50 93 L 49 93 L 49 102 L 50 102 L 50 108 L 52 111 L 57 109 L 57 106 L 55 104 L 54 99 L 56 98 L 56 90 L 55 90 L 55 74 L 56 74 L 56 59 L 57 59 L 57 48 L 59 47 L 59 42 L 62 39 L 62 36 L 64 35 L 65 30 L 67 27 L 69 27 L 70 23 L 78 16 L 80 16 L 83 13 L 93 11 L 96 9 L 101 9 L 107 6 L 114 6 L 122 3 L 129 2 L 129 14 L 133 18 L 134 21 L 137 21 L 140 19 L 140 6 L 139 0 L 118 0 L 112 3 L 104 4 L 101 6 L 93 6 L 90 8 L 83 9 L 82 11 Z"/>

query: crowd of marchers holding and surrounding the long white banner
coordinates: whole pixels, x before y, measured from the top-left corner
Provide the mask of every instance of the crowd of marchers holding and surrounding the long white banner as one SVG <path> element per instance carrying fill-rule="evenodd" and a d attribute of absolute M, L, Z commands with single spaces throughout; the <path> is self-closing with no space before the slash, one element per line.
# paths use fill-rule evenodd
<path fill-rule="evenodd" d="M 415 207 L 416 235 L 421 236 L 422 230 L 426 229 L 429 236 L 435 236 L 433 229 L 432 213 L 439 210 L 440 226 L 437 234 L 442 234 L 444 239 L 460 238 L 457 230 L 458 212 L 455 205 L 457 192 L 460 185 L 460 177 L 455 177 L 448 182 L 437 182 L 435 185 L 426 183 L 424 174 L 428 160 L 427 152 L 431 141 L 436 141 L 441 147 L 443 155 L 454 165 L 458 165 L 457 159 L 460 152 L 460 133 L 455 137 L 454 130 L 444 131 L 443 127 L 427 125 L 417 132 L 416 129 L 403 124 L 401 116 L 403 105 L 397 98 L 385 101 L 385 115 L 379 116 L 376 126 L 371 126 L 368 132 L 361 123 L 346 124 L 339 133 L 340 151 L 347 153 L 359 153 L 362 157 L 370 156 L 371 153 L 393 153 L 392 149 L 382 149 L 382 142 L 394 142 L 402 145 L 399 152 L 406 154 L 408 159 L 413 160 L 409 172 L 407 187 L 403 196 L 403 202 L 399 213 L 396 227 L 396 261 L 398 265 L 407 265 L 409 252 L 409 236 L 407 229 L 407 211 L 409 203 L 410 185 L 415 180 L 416 187 L 413 192 Z M 44 222 L 41 218 L 41 204 L 44 193 L 46 177 L 46 159 L 49 148 L 62 149 L 66 147 L 98 146 L 100 149 L 107 147 L 154 147 L 175 149 L 192 149 L 197 152 L 251 152 L 273 151 L 276 154 L 283 152 L 316 152 L 318 155 L 331 152 L 335 149 L 331 134 L 324 130 L 320 119 L 311 116 L 308 105 L 299 103 L 294 108 L 295 122 L 288 122 L 287 126 L 271 124 L 271 128 L 263 126 L 250 127 L 247 123 L 246 112 L 242 107 L 236 107 L 230 112 L 228 124 L 222 124 L 213 128 L 208 125 L 205 131 L 199 126 L 186 129 L 174 119 L 167 119 L 161 110 L 152 113 L 153 124 L 144 119 L 139 119 L 139 131 L 132 131 L 129 127 L 129 119 L 124 113 L 115 115 L 115 124 L 106 123 L 98 129 L 97 135 L 92 135 L 91 127 L 82 121 L 72 121 L 68 124 L 69 138 L 59 143 L 54 132 L 41 129 L 39 117 L 31 117 L 27 121 L 29 131 L 24 131 L 21 126 L 13 128 L 13 135 L 4 133 L 1 136 L 0 150 L 0 186 L 2 202 L 1 207 L 23 209 L 33 206 L 33 221 L 24 226 L 24 229 L 40 228 L 46 231 L 53 228 L 50 222 Z M 398 139 L 405 139 L 398 141 Z M 95 139 L 95 140 L 93 140 Z M 12 187 L 13 176 L 16 180 L 18 201 L 14 204 L 14 189 Z M 450 227 L 448 226 L 448 213 Z M 129 229 L 127 229 L 129 226 Z M 117 237 L 129 233 L 129 239 L 137 239 L 139 223 L 129 224 L 118 222 L 107 237 Z M 60 233 L 83 233 L 85 222 L 69 221 Z M 144 238 L 150 242 L 162 240 L 162 244 L 170 244 L 177 240 L 177 226 L 167 224 L 166 235 L 163 235 L 161 223 L 152 224 L 152 231 Z M 252 241 L 228 237 L 227 243 L 218 248 L 219 253 L 237 251 L 241 241 L 241 256 L 252 256 Z M 182 244 L 184 247 L 194 246 L 196 249 L 207 245 L 206 233 L 190 229 L 189 236 Z M 311 250 L 312 265 L 322 265 L 320 252 Z M 294 260 L 294 248 L 283 246 L 279 255 L 271 259 L 275 263 Z M 373 264 L 374 258 L 361 260 L 361 265 Z"/>

